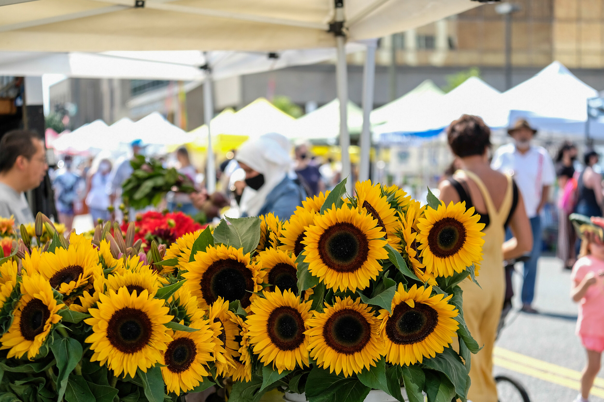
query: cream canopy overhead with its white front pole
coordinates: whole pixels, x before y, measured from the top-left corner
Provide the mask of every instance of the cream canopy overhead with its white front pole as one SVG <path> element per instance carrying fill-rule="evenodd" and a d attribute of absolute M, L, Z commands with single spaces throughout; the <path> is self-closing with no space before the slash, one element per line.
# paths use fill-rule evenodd
<path fill-rule="evenodd" d="M 0 49 L 275 51 L 336 46 L 342 122 L 347 121 L 348 101 L 346 39 L 386 36 L 480 4 L 470 0 L 19 1 L 11 0 L 18 3 L 2 6 Z M 365 80 L 367 85 L 371 82 Z M 205 111 L 210 113 L 211 88 L 205 87 Z M 373 88 L 365 88 L 364 92 L 373 92 Z M 347 125 L 340 127 L 342 175 L 349 176 L 350 138 Z M 210 162 L 208 158 L 208 168 Z M 213 164 L 211 167 L 208 177 L 214 177 Z M 213 190 L 212 184 L 208 182 L 208 191 Z M 347 190 L 351 191 L 350 180 L 348 184 Z"/>

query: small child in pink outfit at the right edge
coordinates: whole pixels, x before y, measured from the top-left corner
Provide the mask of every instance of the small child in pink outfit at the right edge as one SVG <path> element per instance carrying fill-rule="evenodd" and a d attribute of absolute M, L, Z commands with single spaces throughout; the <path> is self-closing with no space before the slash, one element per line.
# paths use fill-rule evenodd
<path fill-rule="evenodd" d="M 593 219 L 604 227 L 604 220 Z M 604 243 L 597 235 L 583 234 L 579 260 L 573 266 L 571 298 L 579 302 L 576 333 L 587 352 L 575 402 L 588 402 L 591 386 L 600 371 L 604 351 Z"/>

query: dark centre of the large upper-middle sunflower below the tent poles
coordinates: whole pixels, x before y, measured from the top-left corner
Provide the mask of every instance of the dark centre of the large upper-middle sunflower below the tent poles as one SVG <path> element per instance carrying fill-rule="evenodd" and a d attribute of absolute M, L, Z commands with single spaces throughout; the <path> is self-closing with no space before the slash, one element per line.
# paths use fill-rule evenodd
<path fill-rule="evenodd" d="M 321 261 L 330 269 L 355 272 L 367 261 L 369 241 L 352 223 L 336 223 L 319 238 L 318 251 Z"/>

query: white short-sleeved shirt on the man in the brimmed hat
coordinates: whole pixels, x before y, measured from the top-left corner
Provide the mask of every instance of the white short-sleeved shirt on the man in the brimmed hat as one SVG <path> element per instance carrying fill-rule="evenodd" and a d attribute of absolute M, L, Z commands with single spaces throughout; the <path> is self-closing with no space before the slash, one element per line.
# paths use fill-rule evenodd
<path fill-rule="evenodd" d="M 556 179 L 554 163 L 547 150 L 532 145 L 522 154 L 514 144 L 502 145 L 495 151 L 491 167 L 501 173 L 513 174 L 528 217 L 536 217 L 543 187 L 552 185 Z"/>

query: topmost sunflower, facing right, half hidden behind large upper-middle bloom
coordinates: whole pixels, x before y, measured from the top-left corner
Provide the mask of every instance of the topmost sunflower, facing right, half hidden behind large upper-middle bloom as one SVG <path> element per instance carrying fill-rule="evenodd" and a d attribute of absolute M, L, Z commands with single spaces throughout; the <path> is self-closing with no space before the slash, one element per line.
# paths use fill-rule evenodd
<path fill-rule="evenodd" d="M 394 235 L 398 219 L 396 210 L 390 208 L 387 197 L 382 195 L 382 187 L 378 184 L 372 186 L 371 180 L 356 182 L 356 202 L 359 210 L 363 209 L 377 220 L 377 226 L 382 229 L 382 235 L 388 243 L 396 244 Z"/>

